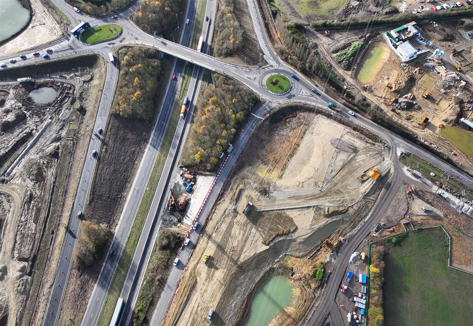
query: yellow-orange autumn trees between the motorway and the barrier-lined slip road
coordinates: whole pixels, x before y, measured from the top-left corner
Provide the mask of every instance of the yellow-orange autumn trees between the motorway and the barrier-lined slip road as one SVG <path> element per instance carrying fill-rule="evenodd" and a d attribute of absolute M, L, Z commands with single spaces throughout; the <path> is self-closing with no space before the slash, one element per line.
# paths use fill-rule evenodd
<path fill-rule="evenodd" d="M 214 75 L 214 85 L 209 85 L 199 97 L 183 164 L 212 171 L 257 102 L 257 97 L 244 85 Z"/>

